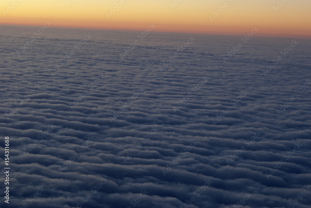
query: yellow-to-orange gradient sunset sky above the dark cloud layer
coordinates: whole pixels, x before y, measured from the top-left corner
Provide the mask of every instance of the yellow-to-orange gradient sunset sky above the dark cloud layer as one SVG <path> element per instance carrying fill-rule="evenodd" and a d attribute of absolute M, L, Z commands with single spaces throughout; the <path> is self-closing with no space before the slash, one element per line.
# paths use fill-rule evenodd
<path fill-rule="evenodd" d="M 154 23 L 154 31 L 222 35 L 250 32 L 257 26 L 262 35 L 311 36 L 310 0 L 288 0 L 277 12 L 272 7 L 279 0 L 182 0 L 173 9 L 174 0 L 125 0 L 108 20 L 106 13 L 120 1 L 76 0 L 68 6 L 66 0 L 21 0 L 4 16 L 12 0 L 1 0 L 0 24 L 40 26 L 50 20 L 53 27 L 146 30 Z M 229 7 L 211 22 L 209 16 L 226 2 Z"/>

